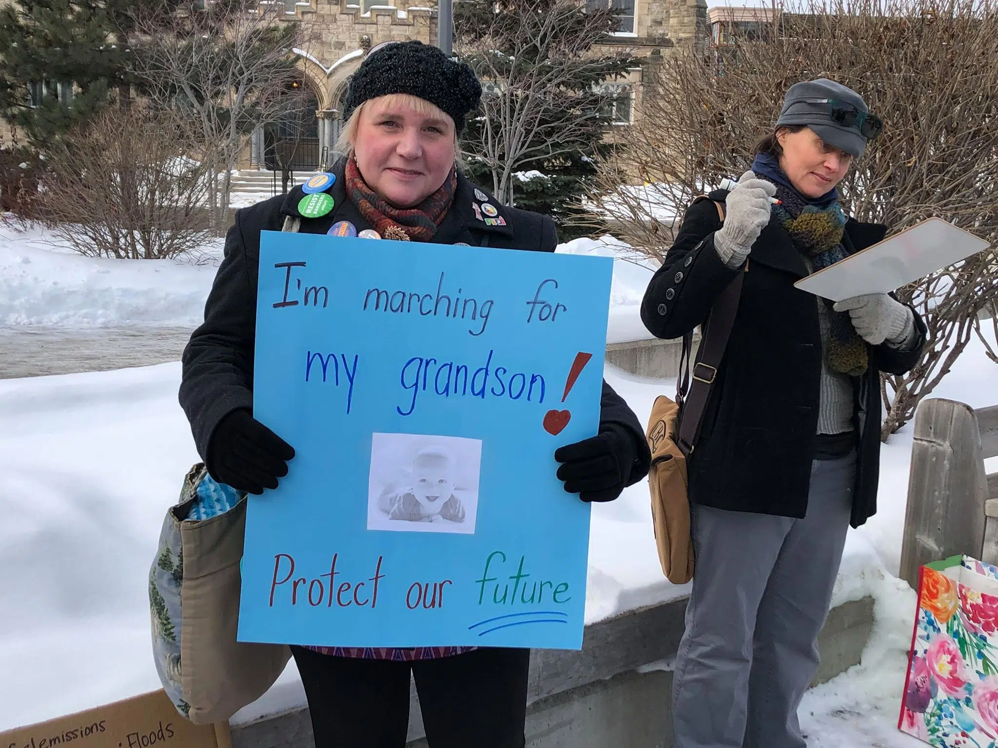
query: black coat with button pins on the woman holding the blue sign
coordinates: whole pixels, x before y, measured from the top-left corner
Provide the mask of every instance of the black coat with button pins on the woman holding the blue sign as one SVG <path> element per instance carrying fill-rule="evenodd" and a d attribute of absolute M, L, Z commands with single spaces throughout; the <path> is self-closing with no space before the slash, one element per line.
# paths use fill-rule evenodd
<path fill-rule="evenodd" d="M 325 191 L 333 198 L 334 207 L 321 217 L 301 217 L 297 209 L 304 196 L 301 187 L 236 212 L 236 221 L 226 236 L 225 258 L 205 305 L 205 322 L 194 331 L 183 356 L 180 402 L 203 459 L 207 459 L 209 443 L 219 422 L 236 409 L 252 410 L 259 232 L 279 231 L 287 215 L 301 218 L 298 230 L 302 233 L 325 233 L 339 220 L 350 221 L 358 231 L 371 228 L 346 196 L 344 164 L 340 162 L 331 170 L 336 181 Z M 476 190 L 487 199 L 477 197 Z M 475 206 L 486 201 L 498 210 L 491 225 L 484 220 L 487 215 L 479 217 L 475 212 Z M 507 207 L 458 175 L 453 206 L 433 241 L 552 252 L 558 244 L 558 235 L 549 216 Z M 631 466 L 628 485 L 640 481 L 648 474 L 651 462 L 644 430 L 628 404 L 606 382 L 600 420 L 601 424 L 623 426 L 633 437 L 637 457 Z"/>

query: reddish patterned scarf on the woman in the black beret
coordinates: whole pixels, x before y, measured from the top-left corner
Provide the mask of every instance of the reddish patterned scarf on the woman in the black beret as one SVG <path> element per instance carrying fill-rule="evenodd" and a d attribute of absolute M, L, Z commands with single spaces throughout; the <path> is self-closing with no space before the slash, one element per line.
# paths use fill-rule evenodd
<path fill-rule="evenodd" d="M 395 207 L 367 186 L 352 158 L 346 162 L 346 194 L 360 214 L 386 239 L 429 241 L 454 201 L 457 171 L 452 169 L 433 194 L 415 207 Z"/>

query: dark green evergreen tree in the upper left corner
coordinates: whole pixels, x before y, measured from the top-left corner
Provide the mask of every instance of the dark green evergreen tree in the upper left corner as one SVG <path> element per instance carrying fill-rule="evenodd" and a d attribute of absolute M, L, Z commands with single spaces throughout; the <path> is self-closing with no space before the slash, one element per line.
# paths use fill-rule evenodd
<path fill-rule="evenodd" d="M 17 0 L 0 9 L 0 117 L 44 149 L 118 89 L 127 92 L 127 13 L 125 0 Z"/>

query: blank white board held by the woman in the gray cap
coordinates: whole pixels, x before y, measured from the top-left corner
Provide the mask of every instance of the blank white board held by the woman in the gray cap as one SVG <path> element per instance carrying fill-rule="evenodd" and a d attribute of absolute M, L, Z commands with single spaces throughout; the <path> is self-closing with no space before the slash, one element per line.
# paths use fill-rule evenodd
<path fill-rule="evenodd" d="M 942 218 L 928 218 L 793 285 L 832 301 L 888 293 L 988 246 L 984 239 Z"/>

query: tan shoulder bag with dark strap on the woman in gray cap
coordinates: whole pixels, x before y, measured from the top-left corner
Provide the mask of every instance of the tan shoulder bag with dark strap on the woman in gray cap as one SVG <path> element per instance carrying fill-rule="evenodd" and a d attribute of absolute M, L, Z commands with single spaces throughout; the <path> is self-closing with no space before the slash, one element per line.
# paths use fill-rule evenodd
<path fill-rule="evenodd" d="M 715 205 L 724 222 L 724 206 L 718 201 L 715 201 Z M 746 269 L 748 268 L 747 261 Z M 693 333 L 684 335 L 676 400 L 666 395 L 657 397 L 648 421 L 646 437 L 652 451 L 648 486 L 652 500 L 655 545 L 662 571 L 674 584 L 685 584 L 693 578 L 694 552 L 690 528 L 687 457 L 697 443 L 708 396 L 731 337 L 744 276 L 745 272 L 736 276 L 731 285 L 722 291 L 711 310 L 699 360 L 693 367 L 692 381 L 690 362 Z"/>

